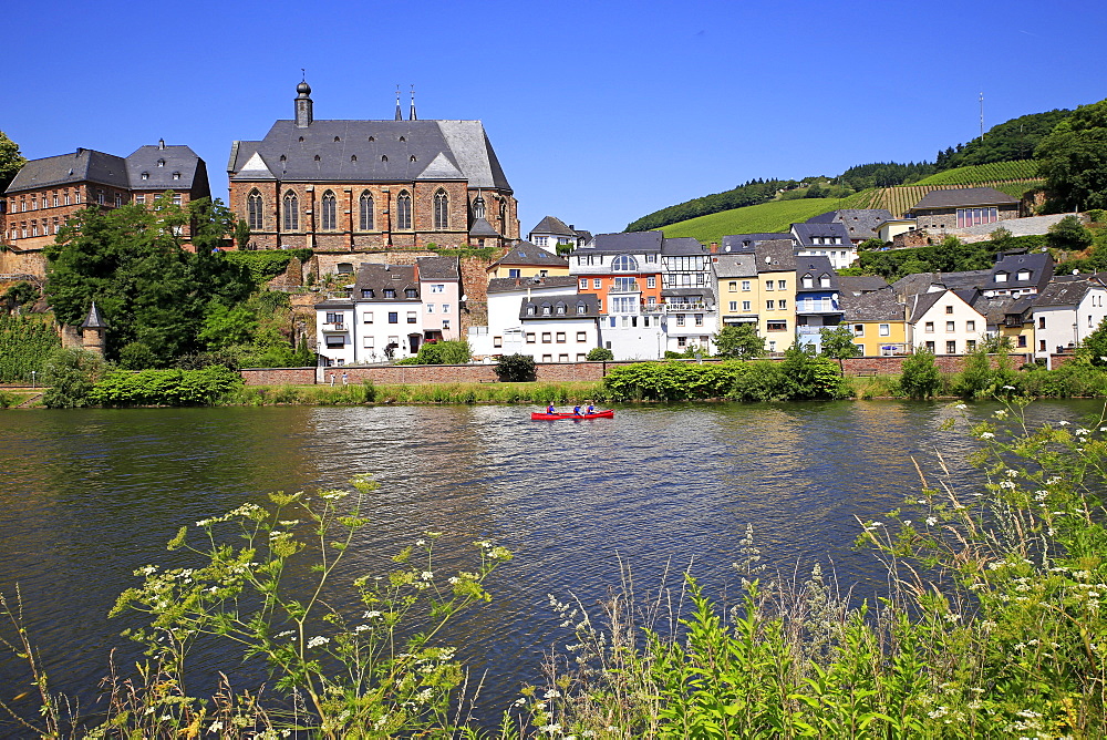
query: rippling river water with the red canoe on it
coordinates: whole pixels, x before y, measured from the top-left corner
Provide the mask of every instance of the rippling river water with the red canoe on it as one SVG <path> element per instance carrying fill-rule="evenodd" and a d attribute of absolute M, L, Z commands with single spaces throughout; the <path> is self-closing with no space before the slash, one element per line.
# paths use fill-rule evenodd
<path fill-rule="evenodd" d="M 1039 402 L 1068 419 L 1101 402 Z M 976 407 L 981 417 L 991 408 Z M 819 562 L 860 596 L 880 593 L 856 517 L 879 517 L 919 487 L 912 456 L 963 470 L 972 442 L 943 431 L 944 404 L 896 401 L 620 408 L 614 419 L 531 422 L 519 407 L 224 408 L 0 412 L 0 592 L 22 592 L 31 637 L 58 690 L 91 706 L 120 648 L 108 620 L 135 568 L 164 563 L 186 524 L 269 491 L 341 485 L 370 474 L 372 526 L 344 575 L 384 573 L 423 532 L 445 533 L 444 566 L 475 539 L 516 553 L 490 582 L 495 600 L 446 636 L 477 672 L 479 710 L 496 718 L 544 655 L 569 635 L 548 595 L 594 605 L 629 565 L 640 593 L 666 564 L 718 598 L 735 594 L 738 541 L 752 524 L 773 569 L 804 577 Z M 937 451 L 937 452 L 935 452 Z M 679 578 L 670 575 L 670 585 Z M 260 679 L 235 654 L 197 661 L 236 686 Z M 203 680 L 200 680 L 203 684 Z M 0 655 L 0 698 L 30 688 Z M 194 685 L 194 688 L 197 688 Z M 197 689 L 198 691 L 198 689 Z M 24 700 L 24 703 L 27 700 Z M 2 734 L 0 728 L 0 734 Z"/>

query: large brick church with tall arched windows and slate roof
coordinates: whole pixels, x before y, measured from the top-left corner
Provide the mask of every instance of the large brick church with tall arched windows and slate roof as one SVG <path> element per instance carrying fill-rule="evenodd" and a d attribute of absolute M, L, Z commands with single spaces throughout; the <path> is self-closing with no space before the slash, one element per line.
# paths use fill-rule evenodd
<path fill-rule="evenodd" d="M 519 238 L 518 205 L 479 121 L 314 119 L 297 85 L 294 117 L 236 141 L 230 208 L 260 249 L 371 251 L 427 244 L 499 247 Z"/>

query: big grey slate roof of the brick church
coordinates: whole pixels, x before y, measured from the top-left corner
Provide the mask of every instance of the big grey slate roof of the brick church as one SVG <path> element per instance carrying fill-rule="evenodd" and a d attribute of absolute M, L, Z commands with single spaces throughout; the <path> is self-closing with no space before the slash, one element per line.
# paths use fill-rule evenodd
<path fill-rule="evenodd" d="M 260 142 L 235 142 L 227 169 L 245 181 L 465 179 L 511 189 L 479 121 L 334 120 L 302 129 L 277 121 Z"/>

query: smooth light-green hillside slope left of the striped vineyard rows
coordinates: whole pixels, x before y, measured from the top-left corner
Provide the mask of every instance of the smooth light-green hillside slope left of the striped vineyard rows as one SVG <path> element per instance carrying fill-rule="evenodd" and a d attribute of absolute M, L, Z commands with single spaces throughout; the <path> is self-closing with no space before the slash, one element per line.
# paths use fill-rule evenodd
<path fill-rule="evenodd" d="M 825 214 L 836 208 L 865 208 L 872 191 L 865 191 L 848 198 L 800 198 L 773 201 L 745 208 L 732 208 L 708 216 L 690 218 L 662 227 L 668 237 L 691 236 L 703 244 L 718 241 L 727 234 L 753 232 L 787 232 L 796 222 Z"/>

